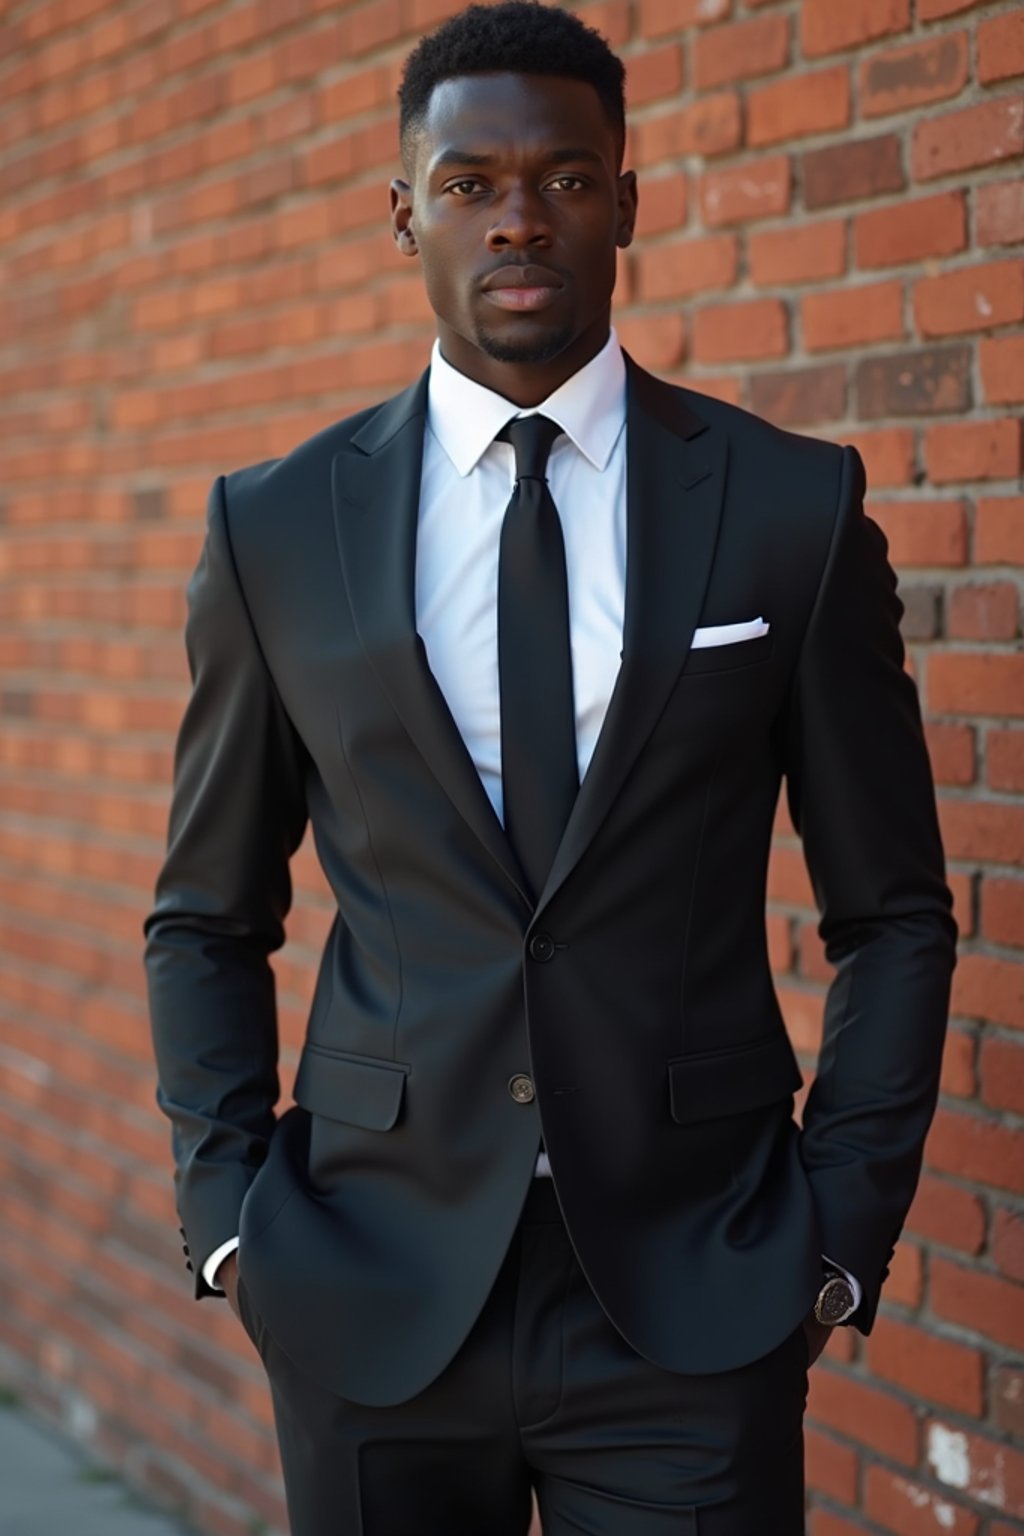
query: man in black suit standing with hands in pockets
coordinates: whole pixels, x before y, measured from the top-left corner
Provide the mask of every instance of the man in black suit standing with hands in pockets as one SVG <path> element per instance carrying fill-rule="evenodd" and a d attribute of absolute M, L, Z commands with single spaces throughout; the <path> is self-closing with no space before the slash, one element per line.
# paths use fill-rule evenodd
<path fill-rule="evenodd" d="M 524 1536 L 531 1490 L 545 1536 L 795 1536 L 808 1366 L 872 1326 L 935 1107 L 955 929 L 863 470 L 623 358 L 622 80 L 520 0 L 419 45 L 430 370 L 210 493 L 147 965 L 293 1536 Z M 838 971 L 803 1129 L 783 779 Z M 338 912 L 275 1120 L 307 819 Z"/>

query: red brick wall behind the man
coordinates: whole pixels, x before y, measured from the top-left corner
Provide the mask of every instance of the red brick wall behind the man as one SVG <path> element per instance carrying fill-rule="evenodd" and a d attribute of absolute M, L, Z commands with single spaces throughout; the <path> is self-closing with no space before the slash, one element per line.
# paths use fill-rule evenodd
<path fill-rule="evenodd" d="M 267 1395 L 181 1267 L 140 922 L 206 492 L 391 392 L 399 61 L 447 0 L 9 0 L 0 23 L 0 1364 L 206 1531 L 276 1530 Z M 815 1369 L 814 1536 L 1024 1530 L 1024 11 L 603 0 L 648 366 L 855 442 L 901 573 L 963 958 L 875 1333 Z M 295 1060 L 327 908 L 279 965 Z M 826 966 L 780 820 L 771 948 Z M 287 1080 L 287 1074 L 286 1074 Z M 1015 1438 L 1016 1445 L 1015 1448 Z M 259 1522 L 266 1522 L 266 1527 Z"/>

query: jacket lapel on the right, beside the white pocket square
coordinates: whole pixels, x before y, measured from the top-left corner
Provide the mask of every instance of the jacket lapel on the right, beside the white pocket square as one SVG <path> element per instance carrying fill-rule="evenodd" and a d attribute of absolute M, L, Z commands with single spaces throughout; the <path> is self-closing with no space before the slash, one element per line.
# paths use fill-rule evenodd
<path fill-rule="evenodd" d="M 622 667 L 539 908 L 579 863 L 654 730 L 700 619 L 718 533 L 726 435 L 626 362 Z"/>

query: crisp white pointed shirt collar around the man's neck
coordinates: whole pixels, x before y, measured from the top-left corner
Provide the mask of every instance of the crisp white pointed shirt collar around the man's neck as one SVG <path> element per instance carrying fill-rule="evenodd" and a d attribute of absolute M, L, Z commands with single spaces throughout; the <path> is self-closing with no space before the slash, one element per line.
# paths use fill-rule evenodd
<path fill-rule="evenodd" d="M 614 329 L 596 358 L 531 410 L 459 373 L 434 341 L 427 421 L 459 475 L 476 467 L 507 422 L 534 412 L 557 421 L 594 468 L 605 468 L 626 419 L 626 366 Z"/>

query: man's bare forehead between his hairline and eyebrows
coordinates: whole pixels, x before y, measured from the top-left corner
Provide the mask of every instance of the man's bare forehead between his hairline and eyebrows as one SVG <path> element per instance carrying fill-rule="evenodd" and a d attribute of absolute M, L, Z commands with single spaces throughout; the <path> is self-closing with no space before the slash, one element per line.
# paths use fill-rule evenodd
<path fill-rule="evenodd" d="M 562 75 L 457 75 L 434 86 L 422 126 L 424 160 L 453 149 L 543 154 L 585 144 L 614 158 L 616 135 L 597 91 Z"/>

